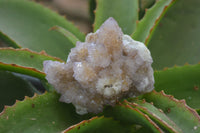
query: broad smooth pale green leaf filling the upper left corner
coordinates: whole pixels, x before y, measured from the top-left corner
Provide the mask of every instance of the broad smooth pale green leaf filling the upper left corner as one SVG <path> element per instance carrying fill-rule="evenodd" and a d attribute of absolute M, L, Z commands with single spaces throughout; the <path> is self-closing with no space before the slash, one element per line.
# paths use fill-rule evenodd
<path fill-rule="evenodd" d="M 85 38 L 84 34 L 64 17 L 27 0 L 0 0 L 0 18 L 3 18 L 0 21 L 0 31 L 13 40 L 18 47 L 37 52 L 45 50 L 49 55 L 64 60 L 74 45 L 60 33 L 49 29 L 58 25 L 81 41 Z"/>

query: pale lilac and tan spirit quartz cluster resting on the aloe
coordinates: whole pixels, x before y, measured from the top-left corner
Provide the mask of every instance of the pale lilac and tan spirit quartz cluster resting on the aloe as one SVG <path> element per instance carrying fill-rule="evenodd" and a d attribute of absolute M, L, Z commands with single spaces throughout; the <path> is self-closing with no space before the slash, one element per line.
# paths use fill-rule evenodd
<path fill-rule="evenodd" d="M 78 114 L 99 113 L 122 98 L 154 88 L 152 58 L 146 46 L 124 35 L 113 18 L 77 42 L 66 63 L 45 61 L 46 79 Z"/>

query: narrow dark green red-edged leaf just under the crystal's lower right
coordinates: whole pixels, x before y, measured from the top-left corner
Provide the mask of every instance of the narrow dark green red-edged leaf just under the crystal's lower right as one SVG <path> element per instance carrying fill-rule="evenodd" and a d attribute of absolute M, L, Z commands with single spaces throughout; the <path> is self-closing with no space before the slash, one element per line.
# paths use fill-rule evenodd
<path fill-rule="evenodd" d="M 129 104 L 119 104 L 115 107 L 107 107 L 103 113 L 105 116 L 114 117 L 124 125 L 140 125 L 151 132 L 161 133 L 162 129 L 152 121 L 146 114 Z"/>

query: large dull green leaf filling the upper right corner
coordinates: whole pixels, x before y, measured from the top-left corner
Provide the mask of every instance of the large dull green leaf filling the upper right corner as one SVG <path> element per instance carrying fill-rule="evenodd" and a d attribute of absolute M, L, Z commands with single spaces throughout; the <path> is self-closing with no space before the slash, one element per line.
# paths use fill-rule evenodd
<path fill-rule="evenodd" d="M 200 61 L 200 1 L 178 0 L 149 43 L 154 69 Z"/>

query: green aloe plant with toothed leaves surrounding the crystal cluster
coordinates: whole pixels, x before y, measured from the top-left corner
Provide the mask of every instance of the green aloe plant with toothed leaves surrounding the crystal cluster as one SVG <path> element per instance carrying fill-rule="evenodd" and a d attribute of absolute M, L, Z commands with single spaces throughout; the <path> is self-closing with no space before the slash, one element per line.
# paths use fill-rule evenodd
<path fill-rule="evenodd" d="M 59 102 L 42 64 L 64 62 L 85 35 L 36 2 L 0 0 L 0 39 L 9 46 L 0 48 L 0 132 L 199 133 L 199 5 L 198 0 L 91 0 L 94 32 L 113 17 L 150 49 L 155 90 L 99 114 L 78 115 L 72 104 Z"/>

